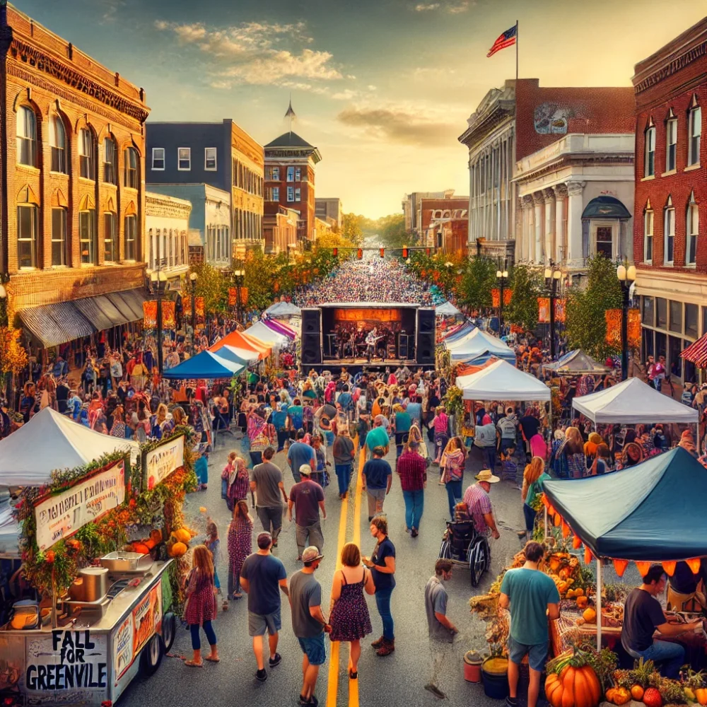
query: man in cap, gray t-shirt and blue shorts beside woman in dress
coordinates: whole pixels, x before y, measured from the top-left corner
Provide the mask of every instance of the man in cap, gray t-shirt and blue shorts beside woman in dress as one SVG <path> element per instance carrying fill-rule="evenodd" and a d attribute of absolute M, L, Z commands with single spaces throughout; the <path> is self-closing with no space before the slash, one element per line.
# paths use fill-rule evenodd
<path fill-rule="evenodd" d="M 312 696 L 319 677 L 319 667 L 327 660 L 324 636 L 332 630 L 322 614 L 322 585 L 314 576 L 322 557 L 313 545 L 305 548 L 302 553 L 305 566 L 290 579 L 292 630 L 305 654 L 300 704 L 315 704 Z"/>

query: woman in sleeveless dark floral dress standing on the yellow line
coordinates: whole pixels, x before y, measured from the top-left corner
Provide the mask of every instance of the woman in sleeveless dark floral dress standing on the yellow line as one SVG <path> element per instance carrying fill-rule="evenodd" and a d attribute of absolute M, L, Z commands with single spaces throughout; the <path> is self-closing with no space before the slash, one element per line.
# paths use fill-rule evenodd
<path fill-rule="evenodd" d="M 349 677 L 358 677 L 358 658 L 361 658 L 361 638 L 373 631 L 370 625 L 366 594 L 375 594 L 373 575 L 361 565 L 361 551 L 353 542 L 341 550 L 341 569 L 334 573 L 332 584 L 332 612 L 329 624 L 332 641 L 349 641 Z"/>

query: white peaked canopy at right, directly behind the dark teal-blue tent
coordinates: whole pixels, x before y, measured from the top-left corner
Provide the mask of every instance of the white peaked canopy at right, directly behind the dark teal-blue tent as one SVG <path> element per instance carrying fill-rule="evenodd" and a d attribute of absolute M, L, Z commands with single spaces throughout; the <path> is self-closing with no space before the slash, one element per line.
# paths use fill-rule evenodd
<path fill-rule="evenodd" d="M 595 424 L 696 423 L 696 409 L 663 395 L 640 378 L 572 400 L 572 407 Z"/>

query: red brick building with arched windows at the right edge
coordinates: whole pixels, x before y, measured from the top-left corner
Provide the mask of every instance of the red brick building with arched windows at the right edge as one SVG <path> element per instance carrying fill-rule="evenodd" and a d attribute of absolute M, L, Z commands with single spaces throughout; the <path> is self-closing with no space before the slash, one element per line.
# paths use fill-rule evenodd
<path fill-rule="evenodd" d="M 680 353 L 707 334 L 707 18 L 636 64 L 636 215 L 633 251 L 643 360 Z"/>

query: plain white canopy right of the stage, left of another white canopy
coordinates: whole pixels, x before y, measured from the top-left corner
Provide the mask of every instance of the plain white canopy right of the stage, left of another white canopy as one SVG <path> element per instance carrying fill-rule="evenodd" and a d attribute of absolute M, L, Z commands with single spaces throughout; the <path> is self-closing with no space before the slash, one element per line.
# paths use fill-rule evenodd
<path fill-rule="evenodd" d="M 549 400 L 550 389 L 534 375 L 496 361 L 477 373 L 457 378 L 464 400 Z"/>

